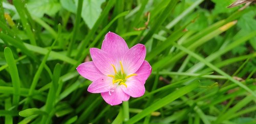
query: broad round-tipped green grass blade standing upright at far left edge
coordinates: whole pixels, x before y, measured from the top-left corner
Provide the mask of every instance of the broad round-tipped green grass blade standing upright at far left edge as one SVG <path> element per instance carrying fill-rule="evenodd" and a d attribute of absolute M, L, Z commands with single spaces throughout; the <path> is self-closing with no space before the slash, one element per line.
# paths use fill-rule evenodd
<path fill-rule="evenodd" d="M 9 65 L 10 75 L 12 79 L 13 86 L 13 106 L 17 106 L 20 98 L 20 80 L 18 75 L 18 69 L 14 57 L 12 55 L 12 51 L 9 47 L 5 47 L 5 59 L 7 64 Z"/>

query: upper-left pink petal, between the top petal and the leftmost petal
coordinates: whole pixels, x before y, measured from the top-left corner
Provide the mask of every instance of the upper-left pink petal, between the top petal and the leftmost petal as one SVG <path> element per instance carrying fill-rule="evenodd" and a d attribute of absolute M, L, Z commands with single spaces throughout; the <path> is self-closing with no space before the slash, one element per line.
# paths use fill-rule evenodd
<path fill-rule="evenodd" d="M 114 69 L 111 66 L 113 59 L 104 51 L 98 48 L 90 48 L 93 63 L 104 75 L 113 75 Z"/>

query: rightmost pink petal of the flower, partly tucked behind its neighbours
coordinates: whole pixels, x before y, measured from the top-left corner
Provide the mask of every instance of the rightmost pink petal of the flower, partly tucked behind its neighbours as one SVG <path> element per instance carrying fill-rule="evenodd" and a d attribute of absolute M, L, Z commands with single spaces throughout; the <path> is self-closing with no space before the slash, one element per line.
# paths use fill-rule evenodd
<path fill-rule="evenodd" d="M 152 68 L 150 66 L 150 63 L 144 60 L 140 68 L 135 72 L 137 74 L 136 78 L 139 79 L 141 82 L 145 82 L 150 76 L 151 72 Z"/>

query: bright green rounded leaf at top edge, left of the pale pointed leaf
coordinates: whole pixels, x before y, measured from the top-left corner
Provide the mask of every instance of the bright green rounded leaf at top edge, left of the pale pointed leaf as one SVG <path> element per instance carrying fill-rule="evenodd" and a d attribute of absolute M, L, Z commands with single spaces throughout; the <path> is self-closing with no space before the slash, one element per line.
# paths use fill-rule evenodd
<path fill-rule="evenodd" d="M 55 15 L 61 8 L 60 4 L 54 0 L 41 1 L 30 0 L 27 3 L 27 8 L 32 16 L 42 17 L 44 14 L 49 16 Z"/>

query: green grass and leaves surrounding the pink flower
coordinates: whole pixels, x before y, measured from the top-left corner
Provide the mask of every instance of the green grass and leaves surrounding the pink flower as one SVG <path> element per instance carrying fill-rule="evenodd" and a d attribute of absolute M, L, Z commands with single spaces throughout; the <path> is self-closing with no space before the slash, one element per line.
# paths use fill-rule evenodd
<path fill-rule="evenodd" d="M 256 123 L 256 8 L 232 2 L 1 0 L 0 123 L 124 122 L 75 69 L 109 31 L 153 67 L 125 123 Z"/>

